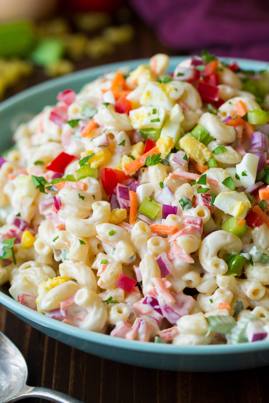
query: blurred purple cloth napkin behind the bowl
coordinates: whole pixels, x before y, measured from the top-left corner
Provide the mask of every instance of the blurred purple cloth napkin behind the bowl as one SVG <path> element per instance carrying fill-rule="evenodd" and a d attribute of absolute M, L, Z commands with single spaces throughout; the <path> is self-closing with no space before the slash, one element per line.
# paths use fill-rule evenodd
<path fill-rule="evenodd" d="M 268 0 L 130 0 L 171 48 L 269 60 Z"/>

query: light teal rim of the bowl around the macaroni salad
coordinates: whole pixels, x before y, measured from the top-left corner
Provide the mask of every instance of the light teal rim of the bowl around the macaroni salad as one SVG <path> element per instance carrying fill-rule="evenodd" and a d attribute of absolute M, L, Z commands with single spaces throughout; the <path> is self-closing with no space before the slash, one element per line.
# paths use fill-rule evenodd
<path fill-rule="evenodd" d="M 178 63 L 190 56 L 171 56 L 171 64 Z M 245 58 L 233 58 L 233 57 L 219 57 L 221 60 L 236 61 L 239 64 L 247 64 L 248 68 L 253 69 L 268 69 L 269 62 L 263 60 L 251 60 Z M 11 96 L 7 100 L 0 103 L 0 112 L 3 112 L 6 108 L 12 107 L 14 104 L 19 103 L 25 98 L 42 92 L 43 90 L 54 89 L 59 85 L 71 85 L 74 80 L 92 79 L 89 76 L 100 76 L 106 71 L 111 69 L 117 69 L 119 67 L 128 66 L 130 68 L 136 67 L 138 64 L 148 64 L 148 58 L 125 60 L 123 62 L 114 62 L 109 64 L 103 64 L 101 66 L 94 66 L 88 69 L 83 69 L 69 75 L 62 77 L 56 77 L 48 81 L 42 82 L 37 85 L 21 91 L 20 93 Z M 85 81 L 85 83 L 87 83 Z M 45 106 L 45 105 L 44 105 Z M 143 353 L 160 353 L 166 355 L 216 355 L 216 354 L 236 354 L 236 353 L 250 353 L 259 352 L 269 349 L 269 341 L 257 341 L 255 343 L 240 343 L 236 345 L 219 344 L 219 345 L 171 345 L 163 343 L 142 343 L 136 340 L 126 340 L 118 337 L 111 337 L 108 334 L 102 334 L 93 332 L 90 330 L 84 330 L 71 326 L 66 323 L 62 323 L 48 316 L 42 315 L 37 311 L 33 311 L 30 308 L 21 305 L 15 299 L 6 295 L 0 291 L 0 304 L 6 307 L 8 310 L 22 316 L 34 322 L 37 325 L 42 325 L 45 328 L 51 328 L 54 331 L 58 331 L 70 337 L 75 337 L 85 342 L 93 342 L 96 344 L 102 344 L 108 347 L 121 348 L 123 350 L 140 351 Z M 157 346 L 158 345 L 158 346 Z"/>

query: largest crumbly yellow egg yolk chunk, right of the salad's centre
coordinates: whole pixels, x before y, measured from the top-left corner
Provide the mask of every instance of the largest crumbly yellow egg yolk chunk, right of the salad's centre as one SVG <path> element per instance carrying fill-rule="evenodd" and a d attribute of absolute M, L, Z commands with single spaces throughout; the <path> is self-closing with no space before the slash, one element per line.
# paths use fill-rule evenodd
<path fill-rule="evenodd" d="M 206 147 L 206 145 L 200 143 L 199 140 L 192 136 L 181 137 L 179 145 L 187 154 L 189 154 L 190 158 L 196 161 L 199 165 L 204 165 L 204 163 L 212 157 L 211 151 Z"/>

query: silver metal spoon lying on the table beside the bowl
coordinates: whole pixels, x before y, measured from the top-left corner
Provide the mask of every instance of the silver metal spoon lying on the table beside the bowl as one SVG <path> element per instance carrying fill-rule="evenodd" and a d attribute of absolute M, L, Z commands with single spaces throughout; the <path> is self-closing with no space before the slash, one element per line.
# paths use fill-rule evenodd
<path fill-rule="evenodd" d="M 23 355 L 0 332 L 0 403 L 11 403 L 25 397 L 41 397 L 59 403 L 82 403 L 62 392 L 37 386 L 27 386 L 27 376 L 27 365 Z"/>

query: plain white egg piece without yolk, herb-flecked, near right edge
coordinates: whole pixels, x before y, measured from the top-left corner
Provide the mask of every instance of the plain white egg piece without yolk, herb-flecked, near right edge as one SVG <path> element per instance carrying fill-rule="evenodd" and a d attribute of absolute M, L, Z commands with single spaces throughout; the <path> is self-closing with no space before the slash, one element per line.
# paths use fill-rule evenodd
<path fill-rule="evenodd" d="M 250 153 L 244 155 L 240 164 L 236 164 L 236 173 L 244 187 L 254 185 L 258 164 L 259 157 Z"/>

